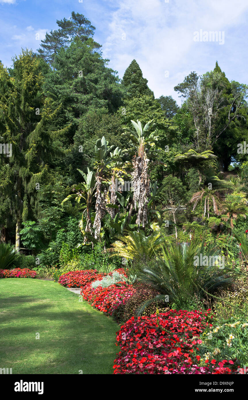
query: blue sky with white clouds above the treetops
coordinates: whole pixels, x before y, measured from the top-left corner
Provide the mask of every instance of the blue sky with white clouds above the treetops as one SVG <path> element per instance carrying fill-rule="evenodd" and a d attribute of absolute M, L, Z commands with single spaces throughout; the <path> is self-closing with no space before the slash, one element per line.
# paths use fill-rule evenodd
<path fill-rule="evenodd" d="M 71 11 L 96 27 L 94 38 L 120 78 L 137 60 L 156 97 L 178 100 L 174 86 L 190 71 L 212 70 L 216 60 L 229 80 L 248 83 L 248 0 L 0 0 L 4 66 L 22 47 L 36 51 L 36 34 L 44 38 Z M 212 31 L 217 34 L 209 41 Z M 202 41 L 195 41 L 196 32 Z"/>

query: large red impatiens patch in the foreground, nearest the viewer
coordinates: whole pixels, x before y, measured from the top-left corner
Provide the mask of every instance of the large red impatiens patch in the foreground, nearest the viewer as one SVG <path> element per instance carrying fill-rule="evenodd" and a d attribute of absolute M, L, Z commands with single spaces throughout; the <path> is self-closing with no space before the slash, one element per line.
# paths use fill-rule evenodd
<path fill-rule="evenodd" d="M 234 362 L 206 360 L 200 365 L 195 355 L 199 334 L 208 325 L 210 310 L 170 310 L 157 316 L 130 318 L 117 332 L 121 351 L 115 360 L 114 374 L 231 374 Z"/>

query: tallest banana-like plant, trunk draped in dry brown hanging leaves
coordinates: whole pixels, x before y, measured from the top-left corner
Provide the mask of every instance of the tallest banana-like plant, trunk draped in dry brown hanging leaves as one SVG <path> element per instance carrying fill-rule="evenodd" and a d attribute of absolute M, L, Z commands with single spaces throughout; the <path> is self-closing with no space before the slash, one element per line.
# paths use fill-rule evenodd
<path fill-rule="evenodd" d="M 147 151 L 157 144 L 157 136 L 155 130 L 151 132 L 151 128 L 155 127 L 153 120 L 147 122 L 145 127 L 141 125 L 141 122 L 137 120 L 137 123 L 131 120 L 135 131 L 125 128 L 125 132 L 122 134 L 127 136 L 129 144 L 131 146 L 128 151 L 134 153 L 132 164 L 133 164 L 133 207 L 137 208 L 137 220 L 136 223 L 142 224 L 145 228 L 147 224 L 147 204 L 150 196 L 150 181 L 149 181 L 149 159 L 147 157 Z"/>

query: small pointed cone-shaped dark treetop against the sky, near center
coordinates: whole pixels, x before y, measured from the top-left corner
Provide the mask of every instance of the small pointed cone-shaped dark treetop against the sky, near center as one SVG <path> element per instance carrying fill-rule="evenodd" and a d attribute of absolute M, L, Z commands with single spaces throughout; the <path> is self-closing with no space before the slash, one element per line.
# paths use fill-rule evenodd
<path fill-rule="evenodd" d="M 125 70 L 122 85 L 127 88 L 127 92 L 130 97 L 139 97 L 144 94 L 153 96 L 154 94 L 151 89 L 147 86 L 148 80 L 143 78 L 142 71 L 136 60 L 133 60 L 131 64 Z"/>

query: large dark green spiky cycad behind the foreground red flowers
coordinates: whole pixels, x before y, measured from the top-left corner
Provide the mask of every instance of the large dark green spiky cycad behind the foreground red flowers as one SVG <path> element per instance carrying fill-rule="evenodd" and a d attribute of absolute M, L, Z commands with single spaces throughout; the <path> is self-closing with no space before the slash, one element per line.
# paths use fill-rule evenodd
<path fill-rule="evenodd" d="M 215 244 L 206 248 L 203 242 L 191 242 L 190 246 L 174 243 L 164 246 L 161 256 L 156 258 L 152 266 L 143 266 L 137 272 L 140 282 L 160 292 L 155 298 L 143 303 L 139 314 L 151 302 L 168 299 L 170 304 L 175 303 L 178 308 L 186 309 L 195 295 L 200 297 L 212 294 L 216 288 L 230 282 L 231 269 L 216 264 L 219 255 Z M 200 261 L 206 260 L 204 256 L 207 256 L 208 262 Z M 166 300 L 165 296 L 168 296 Z"/>

